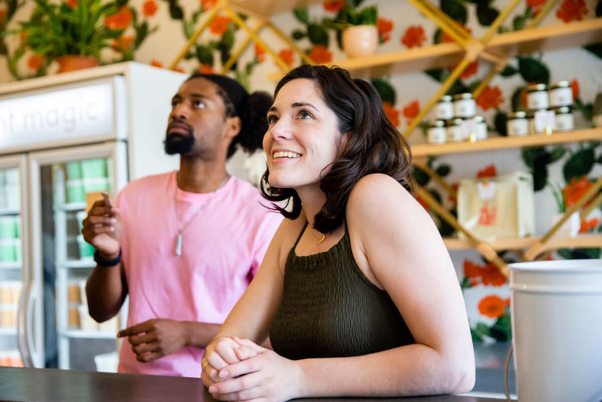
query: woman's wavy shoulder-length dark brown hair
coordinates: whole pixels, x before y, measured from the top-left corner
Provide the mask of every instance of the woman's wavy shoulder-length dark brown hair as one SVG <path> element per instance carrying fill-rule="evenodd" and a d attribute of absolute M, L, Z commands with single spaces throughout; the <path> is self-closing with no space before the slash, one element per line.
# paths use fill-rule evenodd
<path fill-rule="evenodd" d="M 330 164 L 330 172 L 320 181 L 326 202 L 315 215 L 314 227 L 318 232 L 328 233 L 343 224 L 349 194 L 365 175 L 384 173 L 414 193 L 409 145 L 386 117 L 374 85 L 352 78 L 349 71 L 341 67 L 304 64 L 278 82 L 274 99 L 287 82 L 297 78 L 314 81 L 321 99 L 337 115 L 338 130 L 349 133 L 340 158 Z M 263 196 L 272 202 L 286 200 L 285 208 L 274 205 L 273 209 L 286 218 L 296 219 L 301 213 L 299 195 L 292 188 L 270 186 L 269 175 L 266 169 L 261 178 Z M 287 210 L 289 203 L 292 203 L 290 211 Z"/>

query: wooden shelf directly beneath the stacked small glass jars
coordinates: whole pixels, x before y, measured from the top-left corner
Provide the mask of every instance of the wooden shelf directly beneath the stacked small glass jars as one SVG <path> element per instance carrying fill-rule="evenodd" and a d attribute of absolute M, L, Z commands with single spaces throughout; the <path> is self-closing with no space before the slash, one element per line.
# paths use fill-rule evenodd
<path fill-rule="evenodd" d="M 577 141 L 602 140 L 602 128 L 553 133 L 551 135 L 532 134 L 524 137 L 494 137 L 475 143 L 421 144 L 411 146 L 413 157 L 444 155 L 446 153 L 477 152 L 500 148 L 542 146 L 549 144 L 572 143 Z"/>

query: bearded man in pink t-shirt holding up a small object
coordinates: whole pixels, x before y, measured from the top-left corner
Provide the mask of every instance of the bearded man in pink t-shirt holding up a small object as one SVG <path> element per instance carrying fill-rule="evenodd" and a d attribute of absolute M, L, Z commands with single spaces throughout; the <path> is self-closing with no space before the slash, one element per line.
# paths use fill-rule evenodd
<path fill-rule="evenodd" d="M 82 233 L 98 264 L 88 278 L 90 315 L 116 315 L 129 294 L 121 373 L 200 377 L 203 348 L 255 276 L 282 218 L 259 191 L 229 176 L 238 144 L 261 148 L 267 93 L 197 73 L 172 99 L 165 150 L 178 171 L 126 185 L 97 201 Z"/>

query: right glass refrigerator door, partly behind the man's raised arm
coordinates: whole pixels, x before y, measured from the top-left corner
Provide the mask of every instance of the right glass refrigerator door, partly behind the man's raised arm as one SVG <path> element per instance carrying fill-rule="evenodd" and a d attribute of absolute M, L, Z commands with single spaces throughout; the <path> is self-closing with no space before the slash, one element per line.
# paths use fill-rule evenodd
<path fill-rule="evenodd" d="M 125 185 L 125 144 L 35 153 L 31 160 L 32 185 L 37 186 L 32 220 L 39 236 L 33 248 L 42 279 L 43 365 L 111 370 L 117 362 L 119 316 L 99 324 L 88 315 L 85 281 L 96 263 L 81 227 L 102 191 L 114 199 Z"/>

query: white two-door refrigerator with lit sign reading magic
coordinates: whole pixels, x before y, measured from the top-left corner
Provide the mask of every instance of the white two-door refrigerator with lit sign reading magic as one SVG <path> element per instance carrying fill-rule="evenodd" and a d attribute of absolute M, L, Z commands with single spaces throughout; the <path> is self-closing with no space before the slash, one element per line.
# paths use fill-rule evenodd
<path fill-rule="evenodd" d="M 120 63 L 0 85 L 0 365 L 114 367 L 126 305 L 88 315 L 81 221 L 99 191 L 177 169 L 163 139 L 186 77 Z"/>

